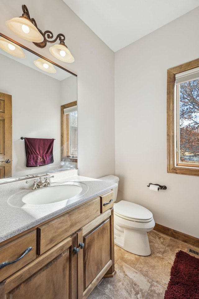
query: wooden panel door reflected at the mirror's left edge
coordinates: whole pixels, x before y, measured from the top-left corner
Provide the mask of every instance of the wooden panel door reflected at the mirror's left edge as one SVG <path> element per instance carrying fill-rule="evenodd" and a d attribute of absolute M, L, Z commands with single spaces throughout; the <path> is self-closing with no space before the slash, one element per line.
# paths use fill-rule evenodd
<path fill-rule="evenodd" d="M 12 96 L 0 93 L 0 178 L 9 177 L 12 177 Z"/>

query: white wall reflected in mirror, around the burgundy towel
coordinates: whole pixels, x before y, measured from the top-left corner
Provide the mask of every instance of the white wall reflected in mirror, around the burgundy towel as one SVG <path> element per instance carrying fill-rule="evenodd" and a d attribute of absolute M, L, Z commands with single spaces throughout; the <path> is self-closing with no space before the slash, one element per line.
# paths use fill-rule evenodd
<path fill-rule="evenodd" d="M 59 168 L 61 81 L 2 54 L 0 66 L 0 91 L 12 95 L 12 176 L 19 178 Z M 26 168 L 25 143 L 21 137 L 54 138 L 54 163 Z"/>

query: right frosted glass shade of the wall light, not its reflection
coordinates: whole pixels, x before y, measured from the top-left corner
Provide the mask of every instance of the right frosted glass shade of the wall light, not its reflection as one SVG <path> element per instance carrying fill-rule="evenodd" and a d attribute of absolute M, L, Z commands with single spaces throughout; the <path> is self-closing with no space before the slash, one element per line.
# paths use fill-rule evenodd
<path fill-rule="evenodd" d="M 64 62 L 74 62 L 75 59 L 72 56 L 71 52 L 68 50 L 66 45 L 58 44 L 53 45 L 49 48 L 50 53 L 57 59 L 64 61 Z M 61 53 L 60 53 L 61 52 Z"/>

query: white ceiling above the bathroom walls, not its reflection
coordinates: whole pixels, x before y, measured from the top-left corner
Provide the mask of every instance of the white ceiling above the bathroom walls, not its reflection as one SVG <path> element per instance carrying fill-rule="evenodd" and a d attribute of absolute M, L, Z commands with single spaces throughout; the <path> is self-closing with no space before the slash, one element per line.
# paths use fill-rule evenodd
<path fill-rule="evenodd" d="M 199 6 L 199 0 L 63 0 L 114 52 Z"/>

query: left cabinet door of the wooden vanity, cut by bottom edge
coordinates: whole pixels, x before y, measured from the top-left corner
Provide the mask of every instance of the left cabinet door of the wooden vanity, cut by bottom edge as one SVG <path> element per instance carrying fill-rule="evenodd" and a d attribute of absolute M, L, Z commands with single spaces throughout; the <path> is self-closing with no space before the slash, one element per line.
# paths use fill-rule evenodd
<path fill-rule="evenodd" d="M 0 288 L 3 288 L 5 298 L 75 299 L 76 255 L 73 245 L 76 245 L 76 235 L 16 272 Z"/>

